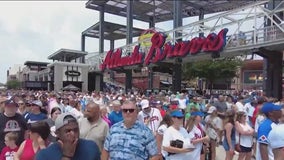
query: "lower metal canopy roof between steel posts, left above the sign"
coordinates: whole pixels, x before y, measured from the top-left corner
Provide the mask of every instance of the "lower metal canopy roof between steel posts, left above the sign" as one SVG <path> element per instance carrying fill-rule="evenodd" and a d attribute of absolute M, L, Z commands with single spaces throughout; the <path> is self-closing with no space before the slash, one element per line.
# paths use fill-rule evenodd
<path fill-rule="evenodd" d="M 92 38 L 100 38 L 100 22 L 89 27 L 82 32 L 82 35 Z M 133 37 L 140 36 L 144 29 L 133 28 Z M 126 38 L 126 26 L 111 22 L 104 22 L 104 39 L 106 40 L 118 40 Z"/>

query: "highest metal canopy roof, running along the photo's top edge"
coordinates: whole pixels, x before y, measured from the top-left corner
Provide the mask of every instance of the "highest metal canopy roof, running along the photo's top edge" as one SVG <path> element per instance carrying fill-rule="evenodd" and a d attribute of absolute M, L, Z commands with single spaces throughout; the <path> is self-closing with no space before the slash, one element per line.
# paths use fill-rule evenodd
<path fill-rule="evenodd" d="M 182 1 L 182 18 L 216 13 L 235 9 L 255 2 L 255 0 L 191 0 Z M 106 13 L 126 17 L 126 0 L 88 0 L 86 8 L 100 11 L 104 6 Z M 154 19 L 163 22 L 173 19 L 173 1 L 136 0 L 133 1 L 133 18 L 145 22 Z"/>

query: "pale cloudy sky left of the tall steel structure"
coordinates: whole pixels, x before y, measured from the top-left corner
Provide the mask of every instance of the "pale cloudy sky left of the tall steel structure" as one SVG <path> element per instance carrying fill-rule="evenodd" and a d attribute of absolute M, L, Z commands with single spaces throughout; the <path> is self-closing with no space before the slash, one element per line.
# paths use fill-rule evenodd
<path fill-rule="evenodd" d="M 60 48 L 80 50 L 81 32 L 98 21 L 85 2 L 0 2 L 0 82 L 27 60 L 46 62 Z"/>

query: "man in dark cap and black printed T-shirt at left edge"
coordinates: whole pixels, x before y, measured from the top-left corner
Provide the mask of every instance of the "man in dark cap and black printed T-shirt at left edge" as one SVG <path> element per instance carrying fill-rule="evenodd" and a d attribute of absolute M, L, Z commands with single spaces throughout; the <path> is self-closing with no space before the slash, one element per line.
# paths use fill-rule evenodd
<path fill-rule="evenodd" d="M 17 145 L 20 145 L 27 135 L 27 123 L 24 118 L 17 113 L 18 104 L 9 99 L 4 102 L 4 113 L 0 114 L 0 150 L 5 146 L 4 137 L 8 132 L 18 133 Z"/>

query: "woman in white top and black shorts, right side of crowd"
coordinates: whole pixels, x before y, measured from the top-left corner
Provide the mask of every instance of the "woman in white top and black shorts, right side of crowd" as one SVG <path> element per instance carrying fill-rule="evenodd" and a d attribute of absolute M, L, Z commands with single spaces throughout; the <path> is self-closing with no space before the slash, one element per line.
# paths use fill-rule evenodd
<path fill-rule="evenodd" d="M 240 144 L 238 160 L 250 160 L 253 145 L 253 128 L 246 122 L 247 115 L 245 112 L 238 112 L 236 116 L 236 143 Z"/>

